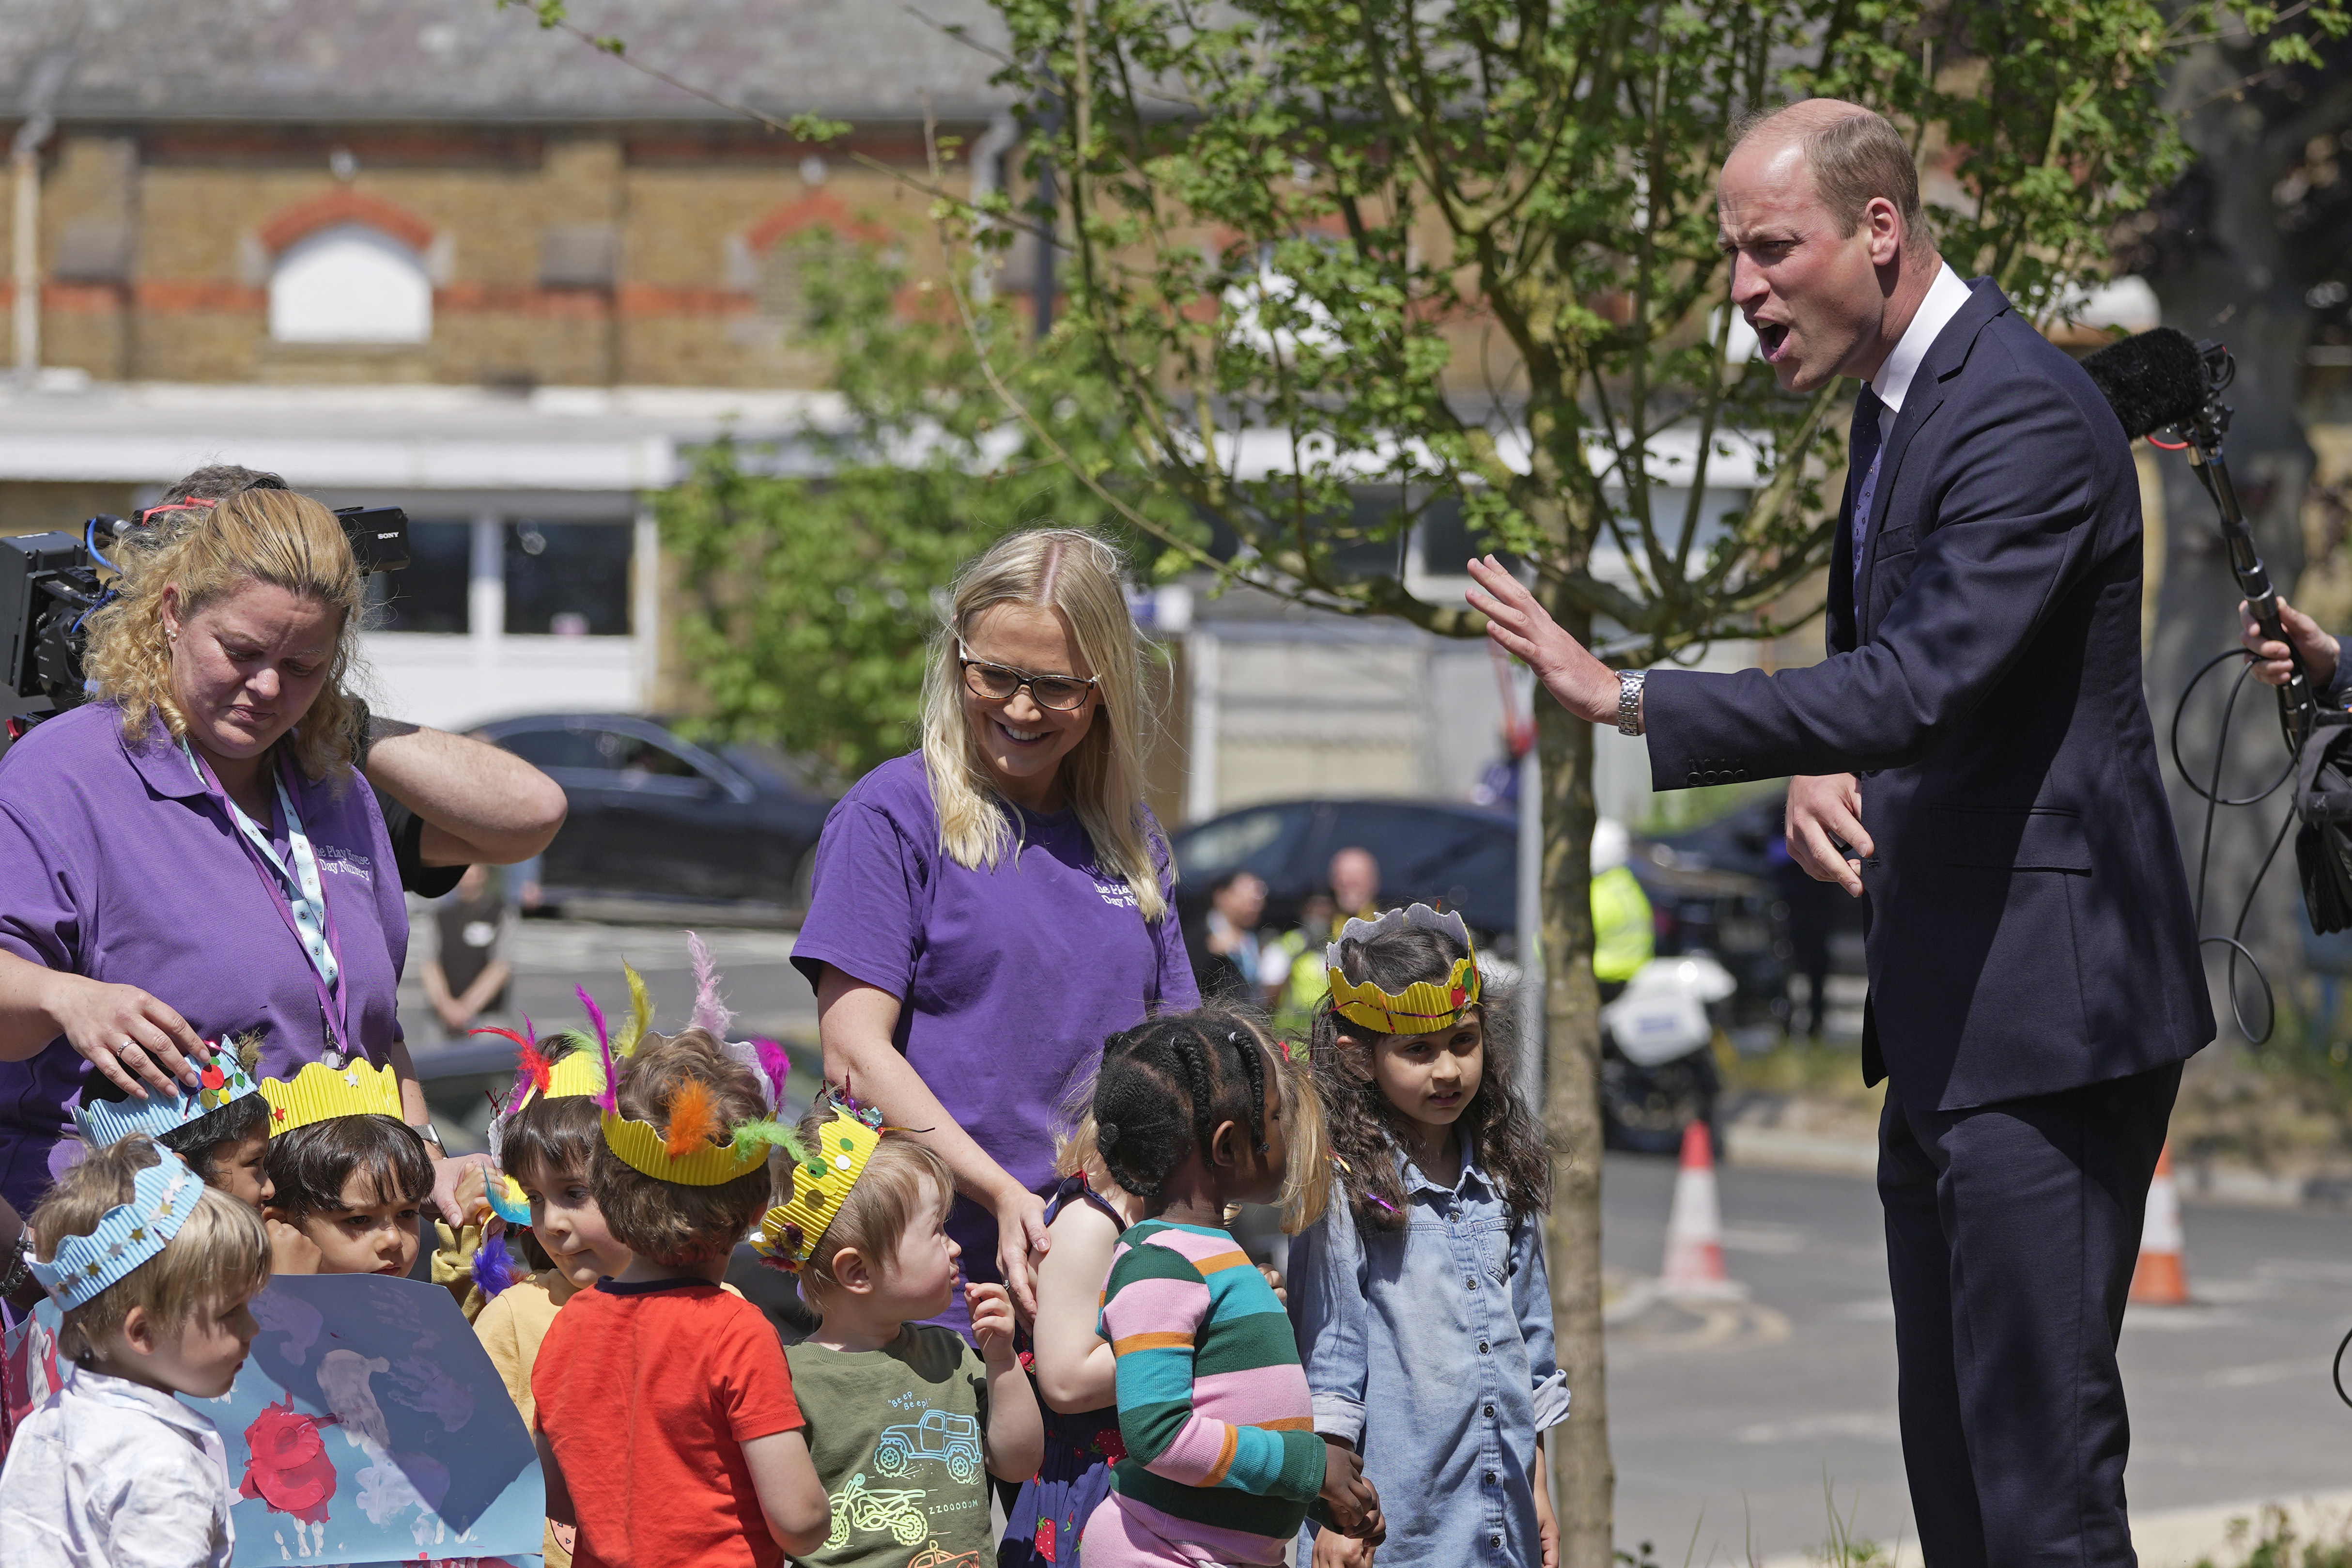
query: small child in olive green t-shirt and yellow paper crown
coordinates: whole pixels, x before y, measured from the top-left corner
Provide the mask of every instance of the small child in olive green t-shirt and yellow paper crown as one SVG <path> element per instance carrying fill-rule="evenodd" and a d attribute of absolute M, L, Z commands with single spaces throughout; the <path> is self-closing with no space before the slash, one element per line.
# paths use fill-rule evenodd
<path fill-rule="evenodd" d="M 1044 1453 L 1014 1356 L 1011 1298 L 964 1286 L 978 1354 L 922 1321 L 946 1312 L 957 1286 L 955 1178 L 929 1147 L 875 1121 L 854 1100 L 821 1095 L 802 1121 L 793 1199 L 767 1213 L 755 1241 L 800 1274 L 821 1319 L 786 1361 L 833 1530 L 793 1561 L 995 1561 L 988 1476 L 1025 1481 Z"/>

